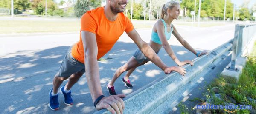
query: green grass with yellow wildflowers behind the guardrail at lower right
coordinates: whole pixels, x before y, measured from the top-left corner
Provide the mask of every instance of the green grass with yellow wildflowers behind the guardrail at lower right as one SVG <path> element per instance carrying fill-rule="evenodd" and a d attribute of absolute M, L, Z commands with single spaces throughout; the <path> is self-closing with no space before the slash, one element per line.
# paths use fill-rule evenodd
<path fill-rule="evenodd" d="M 256 111 L 256 42 L 253 46 L 252 53 L 248 56 L 246 65 L 242 71 L 239 80 L 232 77 L 222 77 L 215 79 L 210 85 L 208 85 L 207 92 L 203 94 L 205 98 L 195 98 L 189 100 L 191 102 L 200 101 L 198 105 L 206 105 L 210 103 L 212 105 L 229 105 L 233 103 L 234 105 L 251 105 L 252 110 L 202 110 L 209 114 L 253 114 Z M 216 91 L 218 90 L 218 91 Z M 217 97 L 215 94 L 220 94 Z M 253 99 L 253 100 L 249 100 Z M 186 105 L 180 103 L 178 105 L 181 114 L 191 114 L 194 108 L 187 108 Z M 232 111 L 232 112 L 231 112 Z M 252 112 L 250 112 L 252 111 Z"/>

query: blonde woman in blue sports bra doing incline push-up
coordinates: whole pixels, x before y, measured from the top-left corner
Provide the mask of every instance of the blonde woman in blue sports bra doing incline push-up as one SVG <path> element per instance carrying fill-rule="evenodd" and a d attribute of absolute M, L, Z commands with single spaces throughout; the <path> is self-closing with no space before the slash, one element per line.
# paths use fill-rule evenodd
<path fill-rule="evenodd" d="M 151 34 L 151 40 L 149 42 L 149 45 L 151 48 L 158 54 L 159 50 L 163 46 L 163 48 L 166 50 L 166 53 L 169 54 L 169 56 L 172 58 L 172 60 L 175 61 L 175 63 L 178 66 L 183 66 L 185 64 L 190 64 L 191 66 L 194 64 L 190 60 L 185 60 L 180 62 L 178 58 L 176 57 L 175 53 L 172 51 L 171 46 L 167 42 L 167 40 L 170 39 L 171 34 L 173 34 L 177 40 L 189 51 L 194 53 L 197 57 L 200 57 L 201 55 L 208 54 L 207 52 L 196 52 L 190 45 L 187 43 L 177 32 L 175 26 L 172 25 L 172 21 L 174 19 L 178 19 L 178 16 L 180 15 L 180 4 L 175 1 L 167 2 L 163 5 L 162 13 L 161 13 L 161 20 L 158 20 L 153 27 L 152 34 Z M 139 48 L 135 51 L 133 57 L 131 57 L 125 65 L 118 68 L 113 75 L 113 78 L 111 82 L 107 84 L 107 89 L 109 91 L 110 95 L 116 95 L 116 92 L 114 90 L 114 82 L 116 79 L 124 72 L 127 71 L 127 74 L 125 77 L 122 78 L 122 82 L 125 83 L 126 87 L 132 88 L 131 82 L 129 80 L 129 76 L 131 73 L 141 65 L 144 65 L 149 60 L 143 55 L 143 53 L 140 51 Z M 178 71 L 179 67 L 175 67 Z M 185 69 L 184 69 L 185 70 Z M 178 71 L 181 75 L 184 76 L 183 72 Z"/>

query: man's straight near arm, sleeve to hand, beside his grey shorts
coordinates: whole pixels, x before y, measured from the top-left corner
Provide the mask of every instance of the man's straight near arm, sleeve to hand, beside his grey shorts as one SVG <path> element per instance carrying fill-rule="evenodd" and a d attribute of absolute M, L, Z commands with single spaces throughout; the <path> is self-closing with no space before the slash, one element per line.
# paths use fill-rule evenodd
<path fill-rule="evenodd" d="M 94 33 L 81 31 L 81 39 L 84 46 L 84 65 L 86 71 L 86 79 L 90 89 L 93 102 L 103 95 L 99 79 L 99 65 L 97 62 L 98 46 Z M 96 109 L 106 108 L 112 114 L 120 114 L 124 108 L 124 102 L 121 99 L 124 94 L 113 95 L 102 98 L 96 105 Z"/>

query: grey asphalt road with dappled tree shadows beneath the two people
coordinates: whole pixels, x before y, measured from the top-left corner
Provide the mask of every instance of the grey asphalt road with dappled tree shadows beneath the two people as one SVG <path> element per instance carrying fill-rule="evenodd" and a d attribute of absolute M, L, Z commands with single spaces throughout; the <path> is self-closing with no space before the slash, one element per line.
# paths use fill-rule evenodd
<path fill-rule="evenodd" d="M 200 28 L 176 26 L 176 28 L 181 36 L 197 51 L 210 51 L 233 38 L 235 25 Z M 139 29 L 137 31 L 144 41 L 149 42 L 151 29 Z M 71 89 L 73 105 L 64 105 L 62 103 L 63 96 L 60 95 L 60 109 L 52 111 L 49 108 L 49 91 L 52 88 L 52 79 L 69 46 L 78 40 L 79 33 L 0 37 L 0 113 L 73 114 L 95 112 L 96 109 L 93 106 L 85 76 L 81 77 Z M 173 35 L 169 44 L 179 60 L 195 59 L 196 56 L 186 50 Z M 124 33 L 111 51 L 103 57 L 111 59 L 99 61 L 100 82 L 105 96 L 108 96 L 108 91 L 105 88 L 106 83 L 111 80 L 116 69 L 132 56 L 136 48 L 137 46 Z M 166 65 L 176 66 L 163 48 L 159 57 Z M 137 68 L 131 75 L 130 80 L 134 85 L 133 89 L 128 89 L 123 85 L 121 76 L 115 83 L 116 92 L 118 94 L 130 94 L 163 75 L 165 74 L 160 68 L 149 62 Z"/>

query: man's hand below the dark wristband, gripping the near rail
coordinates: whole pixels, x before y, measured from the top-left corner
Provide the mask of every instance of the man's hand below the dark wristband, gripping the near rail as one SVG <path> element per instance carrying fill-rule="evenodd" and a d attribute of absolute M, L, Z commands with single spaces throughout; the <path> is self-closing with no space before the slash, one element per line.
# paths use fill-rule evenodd
<path fill-rule="evenodd" d="M 123 114 L 125 103 L 122 98 L 125 94 L 111 95 L 109 97 L 102 98 L 96 105 L 96 109 L 100 110 L 106 108 L 112 114 Z"/>

